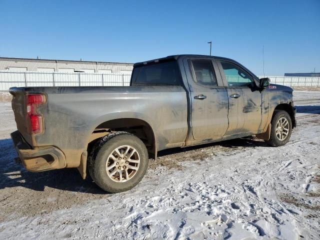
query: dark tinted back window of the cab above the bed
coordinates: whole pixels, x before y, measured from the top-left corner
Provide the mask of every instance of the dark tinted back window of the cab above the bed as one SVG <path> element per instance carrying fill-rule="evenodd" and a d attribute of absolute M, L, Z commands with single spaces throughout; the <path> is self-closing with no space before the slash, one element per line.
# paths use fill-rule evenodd
<path fill-rule="evenodd" d="M 176 61 L 159 62 L 133 69 L 132 86 L 177 86 L 181 76 Z"/>

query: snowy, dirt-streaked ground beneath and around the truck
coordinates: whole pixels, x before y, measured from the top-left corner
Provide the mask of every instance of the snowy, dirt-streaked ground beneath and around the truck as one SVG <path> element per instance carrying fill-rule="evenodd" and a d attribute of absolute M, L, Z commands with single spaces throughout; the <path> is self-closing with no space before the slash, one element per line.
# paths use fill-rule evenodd
<path fill-rule="evenodd" d="M 135 188 L 104 194 L 75 169 L 13 163 L 15 123 L 0 102 L 0 239 L 319 239 L 320 91 L 294 91 L 282 147 L 236 139 L 171 149 Z"/>

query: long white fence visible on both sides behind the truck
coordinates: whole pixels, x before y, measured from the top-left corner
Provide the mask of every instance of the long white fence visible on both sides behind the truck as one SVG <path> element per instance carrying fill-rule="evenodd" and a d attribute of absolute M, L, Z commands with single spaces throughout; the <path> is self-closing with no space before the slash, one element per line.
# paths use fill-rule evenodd
<path fill-rule="evenodd" d="M 127 86 L 130 74 L 0 71 L 0 91 L 12 86 Z M 259 76 L 260 78 L 263 76 Z M 320 77 L 265 76 L 287 86 L 320 86 Z"/>

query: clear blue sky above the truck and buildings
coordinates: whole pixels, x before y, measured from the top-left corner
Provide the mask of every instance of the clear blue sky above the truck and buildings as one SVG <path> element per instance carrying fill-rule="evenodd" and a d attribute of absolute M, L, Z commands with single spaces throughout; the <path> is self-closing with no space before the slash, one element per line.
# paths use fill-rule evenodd
<path fill-rule="evenodd" d="M 136 62 L 233 58 L 255 74 L 320 72 L 320 0 L 1 0 L 0 56 Z"/>

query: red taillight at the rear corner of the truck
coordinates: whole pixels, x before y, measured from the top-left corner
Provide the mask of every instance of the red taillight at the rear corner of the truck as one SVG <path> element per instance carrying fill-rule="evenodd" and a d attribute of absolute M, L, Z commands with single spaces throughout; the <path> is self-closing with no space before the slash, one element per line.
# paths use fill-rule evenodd
<path fill-rule="evenodd" d="M 25 95 L 26 112 L 27 112 L 27 128 L 31 134 L 38 134 L 43 131 L 42 116 L 36 112 L 37 105 L 45 103 L 45 95 L 28 94 Z"/>

